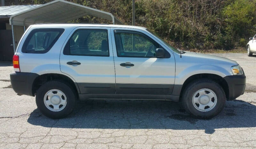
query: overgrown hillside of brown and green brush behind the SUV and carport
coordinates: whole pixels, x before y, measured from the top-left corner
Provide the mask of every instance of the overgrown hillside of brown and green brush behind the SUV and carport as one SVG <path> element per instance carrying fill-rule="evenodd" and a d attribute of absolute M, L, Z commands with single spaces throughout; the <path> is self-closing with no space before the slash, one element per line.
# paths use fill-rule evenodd
<path fill-rule="evenodd" d="M 14 1 L 10 0 L 10 4 Z M 50 1 L 22 0 L 19 4 Z M 110 12 L 125 25 L 132 25 L 132 0 L 68 1 Z M 256 34 L 256 0 L 136 0 L 135 7 L 136 26 L 155 31 L 177 48 L 244 47 L 247 39 Z M 92 16 L 70 22 L 112 23 Z"/>

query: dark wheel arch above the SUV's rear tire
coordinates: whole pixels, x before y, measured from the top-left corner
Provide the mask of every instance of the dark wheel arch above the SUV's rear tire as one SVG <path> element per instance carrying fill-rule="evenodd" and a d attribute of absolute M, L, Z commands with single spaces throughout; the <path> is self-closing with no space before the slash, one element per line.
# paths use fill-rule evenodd
<path fill-rule="evenodd" d="M 69 78 L 66 75 L 58 74 L 58 73 L 46 73 L 39 75 L 35 78 L 32 84 L 32 93 L 35 95 L 36 91 L 39 89 L 40 86 L 42 86 L 45 82 L 57 80 L 61 82 L 65 82 L 68 85 L 72 86 L 74 91 L 76 92 L 76 95 L 78 97 L 78 94 L 80 93 L 79 87 L 71 78 Z"/>

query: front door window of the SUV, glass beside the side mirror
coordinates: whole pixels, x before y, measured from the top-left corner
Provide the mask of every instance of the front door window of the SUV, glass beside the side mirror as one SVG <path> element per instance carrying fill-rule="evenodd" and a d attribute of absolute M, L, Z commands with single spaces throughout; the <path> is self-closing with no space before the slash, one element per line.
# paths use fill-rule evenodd
<path fill-rule="evenodd" d="M 144 34 L 129 31 L 115 31 L 118 57 L 154 57 L 159 45 Z"/>

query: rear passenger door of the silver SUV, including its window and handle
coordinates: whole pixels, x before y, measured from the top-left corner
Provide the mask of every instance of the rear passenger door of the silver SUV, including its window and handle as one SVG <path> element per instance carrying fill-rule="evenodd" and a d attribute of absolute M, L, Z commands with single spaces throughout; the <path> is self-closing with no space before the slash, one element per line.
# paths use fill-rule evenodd
<path fill-rule="evenodd" d="M 78 27 L 65 41 L 60 70 L 74 78 L 80 92 L 115 93 L 115 68 L 108 27 Z"/>

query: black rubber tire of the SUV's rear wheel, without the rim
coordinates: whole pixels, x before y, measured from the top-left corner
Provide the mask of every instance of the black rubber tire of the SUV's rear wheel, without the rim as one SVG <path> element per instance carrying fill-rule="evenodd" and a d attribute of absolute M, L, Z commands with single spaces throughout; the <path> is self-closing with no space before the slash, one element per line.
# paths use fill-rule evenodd
<path fill-rule="evenodd" d="M 51 111 L 44 104 L 44 95 L 52 90 L 57 89 L 65 94 L 67 97 L 67 103 L 65 108 L 61 111 Z M 69 115 L 76 106 L 76 94 L 73 88 L 70 88 L 67 84 L 62 83 L 60 81 L 49 81 L 42 85 L 36 91 L 36 105 L 37 108 L 44 114 L 45 116 L 52 119 L 59 119 L 66 117 Z"/>

